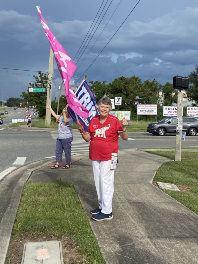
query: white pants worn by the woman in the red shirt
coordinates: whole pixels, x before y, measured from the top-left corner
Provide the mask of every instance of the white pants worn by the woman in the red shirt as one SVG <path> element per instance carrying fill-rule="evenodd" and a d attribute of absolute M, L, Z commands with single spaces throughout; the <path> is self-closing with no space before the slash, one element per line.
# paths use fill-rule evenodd
<path fill-rule="evenodd" d="M 96 191 L 98 195 L 99 208 L 102 213 L 112 212 L 114 170 L 110 169 L 111 160 L 92 160 L 92 168 Z"/>

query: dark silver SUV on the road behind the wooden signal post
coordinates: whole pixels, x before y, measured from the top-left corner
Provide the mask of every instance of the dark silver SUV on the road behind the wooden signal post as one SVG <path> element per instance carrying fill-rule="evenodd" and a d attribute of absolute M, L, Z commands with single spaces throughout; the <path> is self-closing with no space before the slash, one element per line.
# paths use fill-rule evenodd
<path fill-rule="evenodd" d="M 176 133 L 176 116 L 167 116 L 159 122 L 149 123 L 146 132 L 163 136 L 166 133 Z M 183 129 L 186 135 L 196 136 L 198 131 L 198 117 L 183 116 Z"/>

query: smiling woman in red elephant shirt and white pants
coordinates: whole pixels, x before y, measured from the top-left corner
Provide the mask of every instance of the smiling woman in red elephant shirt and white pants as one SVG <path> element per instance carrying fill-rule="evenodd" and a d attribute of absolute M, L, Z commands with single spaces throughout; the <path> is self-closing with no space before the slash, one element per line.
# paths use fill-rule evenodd
<path fill-rule="evenodd" d="M 125 117 L 120 123 L 116 116 L 109 115 L 112 109 L 111 99 L 107 97 L 100 99 L 96 108 L 100 115 L 92 117 L 87 132 L 82 125 L 77 125 L 83 139 L 86 142 L 90 141 L 89 158 L 92 162 L 98 195 L 99 207 L 91 210 L 90 213 L 92 214 L 92 219 L 103 221 L 113 218 L 113 182 L 115 165 L 117 163 L 114 157 L 116 157 L 119 148 L 118 136 L 120 135 L 123 140 L 128 140 L 129 135 L 126 130 Z"/>

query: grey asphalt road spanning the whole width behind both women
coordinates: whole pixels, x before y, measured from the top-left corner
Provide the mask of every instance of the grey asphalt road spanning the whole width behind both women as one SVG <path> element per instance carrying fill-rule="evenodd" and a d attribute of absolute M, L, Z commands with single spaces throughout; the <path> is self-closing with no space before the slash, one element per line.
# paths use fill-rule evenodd
<path fill-rule="evenodd" d="M 12 123 L 12 119 L 22 119 L 24 117 L 25 110 L 8 110 L 8 117 L 4 118 L 3 125 L 0 125 L 0 173 L 9 167 L 19 168 L 55 156 L 55 139 L 53 139 L 52 133 L 17 131 L 6 128 Z M 76 141 L 76 147 L 83 148 L 81 143 L 78 142 Z M 186 136 L 185 141 L 182 141 L 182 146 L 198 146 L 198 135 L 195 137 Z M 129 133 L 128 141 L 119 139 L 119 149 L 159 147 L 175 147 L 175 135 L 156 136 L 148 133 Z M 17 163 L 19 157 L 20 159 L 23 158 L 22 161 L 18 162 L 20 164 L 13 165 L 13 163 Z"/>

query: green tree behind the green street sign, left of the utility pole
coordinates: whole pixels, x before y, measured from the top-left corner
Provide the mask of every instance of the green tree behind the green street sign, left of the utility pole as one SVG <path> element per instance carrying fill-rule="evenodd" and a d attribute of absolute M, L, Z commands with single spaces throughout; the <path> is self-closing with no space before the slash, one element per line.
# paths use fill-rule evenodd
<path fill-rule="evenodd" d="M 35 78 L 35 83 L 29 83 L 28 92 L 22 92 L 20 95 L 26 102 L 29 103 L 29 106 L 35 106 L 37 111 L 39 112 L 39 117 L 45 116 L 46 112 L 46 96 L 47 89 L 45 92 L 29 92 L 29 88 L 47 88 L 48 83 L 48 75 L 47 73 L 38 72 L 39 76 L 33 75 Z"/>

